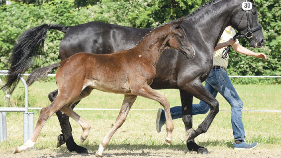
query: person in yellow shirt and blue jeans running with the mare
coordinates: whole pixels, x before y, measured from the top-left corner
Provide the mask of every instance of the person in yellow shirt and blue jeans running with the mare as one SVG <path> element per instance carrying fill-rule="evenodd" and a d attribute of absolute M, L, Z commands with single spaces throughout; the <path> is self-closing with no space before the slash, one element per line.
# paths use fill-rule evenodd
<path fill-rule="evenodd" d="M 234 149 L 254 149 L 258 143 L 249 143 L 245 141 L 245 130 L 242 122 L 242 109 L 243 102 L 238 96 L 235 88 L 229 79 L 226 68 L 228 66 L 228 57 L 222 58 L 222 52 L 226 46 L 232 46 L 234 51 L 255 56 L 257 58 L 263 58 L 266 60 L 266 55 L 263 53 L 255 53 L 247 48 L 241 46 L 238 40 L 234 41 L 232 38 L 235 35 L 235 31 L 231 26 L 226 27 L 222 36 L 214 49 L 213 67 L 205 82 L 205 88 L 216 97 L 218 92 L 226 99 L 231 106 L 231 123 L 232 131 L 234 135 Z M 210 106 L 200 101 L 199 104 L 192 104 L 192 114 L 206 114 L 210 109 Z M 182 107 L 175 106 L 170 108 L 172 119 L 182 118 Z M 161 131 L 162 125 L 165 123 L 164 110 L 159 108 L 156 118 L 156 130 Z"/>

